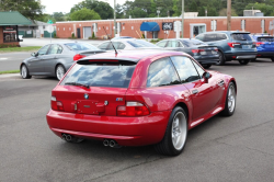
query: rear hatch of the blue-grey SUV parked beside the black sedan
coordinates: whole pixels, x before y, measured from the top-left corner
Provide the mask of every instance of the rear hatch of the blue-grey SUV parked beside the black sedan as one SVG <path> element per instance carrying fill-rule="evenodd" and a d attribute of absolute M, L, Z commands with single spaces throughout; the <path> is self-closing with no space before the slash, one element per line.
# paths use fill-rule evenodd
<path fill-rule="evenodd" d="M 254 52 L 256 48 L 249 33 L 232 33 L 231 39 L 232 42 L 228 43 L 228 45 L 237 52 Z"/>

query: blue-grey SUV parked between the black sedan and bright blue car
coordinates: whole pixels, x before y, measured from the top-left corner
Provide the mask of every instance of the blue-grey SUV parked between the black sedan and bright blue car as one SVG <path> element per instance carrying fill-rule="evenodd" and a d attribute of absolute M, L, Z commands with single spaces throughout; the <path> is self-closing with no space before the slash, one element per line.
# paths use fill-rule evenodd
<path fill-rule="evenodd" d="M 256 58 L 256 44 L 249 32 L 206 32 L 195 38 L 218 47 L 219 61 L 216 65 L 224 65 L 225 61 L 231 60 L 239 60 L 241 65 L 248 65 Z"/>

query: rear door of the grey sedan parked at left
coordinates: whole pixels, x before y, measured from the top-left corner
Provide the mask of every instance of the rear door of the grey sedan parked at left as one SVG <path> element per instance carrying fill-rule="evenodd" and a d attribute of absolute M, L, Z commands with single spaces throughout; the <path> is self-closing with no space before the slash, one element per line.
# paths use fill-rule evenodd
<path fill-rule="evenodd" d="M 53 44 L 47 54 L 43 56 L 43 65 L 45 68 L 45 75 L 55 75 L 55 66 L 59 58 L 62 47 L 58 44 Z"/>

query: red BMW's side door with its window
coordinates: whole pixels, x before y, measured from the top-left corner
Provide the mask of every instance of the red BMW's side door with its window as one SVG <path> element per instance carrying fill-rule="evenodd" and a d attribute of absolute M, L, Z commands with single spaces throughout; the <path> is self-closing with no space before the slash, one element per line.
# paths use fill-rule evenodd
<path fill-rule="evenodd" d="M 198 121 L 216 106 L 217 98 L 219 98 L 219 91 L 215 86 L 216 82 L 213 79 L 206 82 L 201 76 L 203 72 L 197 71 L 191 58 L 185 56 L 173 56 L 171 59 L 182 83 L 191 92 L 193 103 L 192 121 Z M 198 65 L 196 64 L 196 66 Z"/>

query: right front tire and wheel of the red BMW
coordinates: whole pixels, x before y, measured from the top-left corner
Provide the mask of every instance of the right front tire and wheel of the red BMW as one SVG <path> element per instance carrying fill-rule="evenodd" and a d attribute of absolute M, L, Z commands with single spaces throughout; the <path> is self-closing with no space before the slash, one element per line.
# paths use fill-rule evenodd
<path fill-rule="evenodd" d="M 225 110 L 220 112 L 224 116 L 231 116 L 235 113 L 236 109 L 236 86 L 233 82 L 228 84 L 227 96 L 226 96 L 226 106 Z"/>

